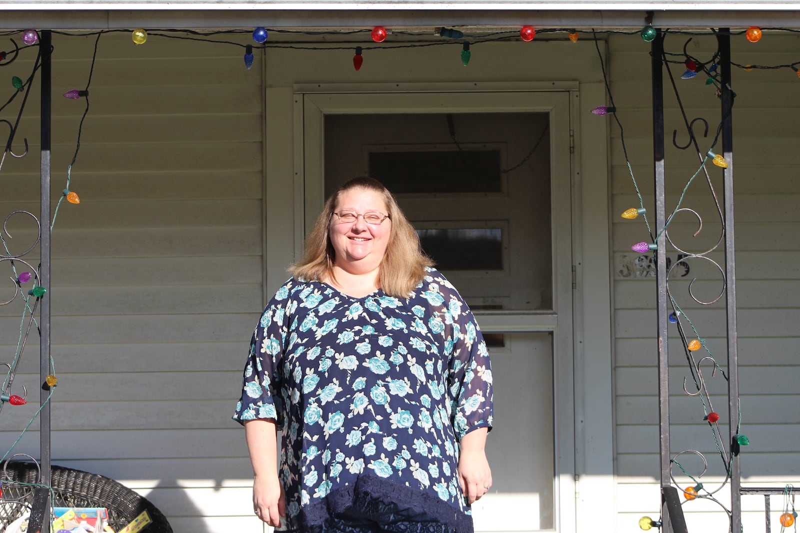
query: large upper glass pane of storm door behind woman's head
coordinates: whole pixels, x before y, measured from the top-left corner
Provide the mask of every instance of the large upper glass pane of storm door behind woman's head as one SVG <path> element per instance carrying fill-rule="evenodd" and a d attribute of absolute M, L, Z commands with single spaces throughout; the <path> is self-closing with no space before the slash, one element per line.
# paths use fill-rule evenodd
<path fill-rule="evenodd" d="M 470 307 L 553 308 L 547 113 L 326 115 L 325 192 L 382 180 Z"/>

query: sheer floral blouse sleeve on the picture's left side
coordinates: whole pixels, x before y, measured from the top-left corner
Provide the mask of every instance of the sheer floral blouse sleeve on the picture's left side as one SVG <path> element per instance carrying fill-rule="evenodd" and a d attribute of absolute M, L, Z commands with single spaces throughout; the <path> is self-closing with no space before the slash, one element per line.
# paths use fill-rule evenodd
<path fill-rule="evenodd" d="M 289 320 L 292 309 L 289 280 L 278 289 L 267 304 L 250 340 L 250 354 L 245 364 L 242 398 L 236 404 L 233 419 L 244 424 L 246 420 L 274 420 L 283 426 L 283 405 L 279 364 L 289 337 Z"/>

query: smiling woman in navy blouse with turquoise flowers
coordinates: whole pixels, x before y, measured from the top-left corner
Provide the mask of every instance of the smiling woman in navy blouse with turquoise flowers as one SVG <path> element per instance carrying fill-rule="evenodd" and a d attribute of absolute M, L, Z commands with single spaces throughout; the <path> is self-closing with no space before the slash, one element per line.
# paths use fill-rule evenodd
<path fill-rule="evenodd" d="M 255 329 L 234 415 L 255 514 L 281 531 L 471 533 L 492 484 L 489 353 L 391 193 L 342 185 L 292 272 Z"/>

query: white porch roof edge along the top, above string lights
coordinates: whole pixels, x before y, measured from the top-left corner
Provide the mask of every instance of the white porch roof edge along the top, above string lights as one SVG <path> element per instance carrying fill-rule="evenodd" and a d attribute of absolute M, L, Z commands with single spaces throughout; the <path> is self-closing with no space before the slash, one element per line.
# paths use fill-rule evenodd
<path fill-rule="evenodd" d="M 390 2 L 388 0 L 314 0 L 242 2 L 241 0 L 10 0 L 3 6 L 0 30 L 27 27 L 51 30 L 116 30 L 134 27 L 246 28 L 254 21 L 270 28 L 353 29 L 431 26 L 542 28 L 641 28 L 647 11 L 653 25 L 673 29 L 709 27 L 800 27 L 794 2 Z"/>

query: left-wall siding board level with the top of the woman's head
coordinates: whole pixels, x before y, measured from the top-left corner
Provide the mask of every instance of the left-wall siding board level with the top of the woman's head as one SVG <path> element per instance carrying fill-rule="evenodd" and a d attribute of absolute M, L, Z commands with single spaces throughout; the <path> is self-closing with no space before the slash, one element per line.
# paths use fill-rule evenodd
<path fill-rule="evenodd" d="M 6 173 L 4 170 L 3 173 L 6 179 L 13 182 L 15 186 L 3 190 L 2 201 L 38 202 L 40 191 L 38 169 L 27 173 Z M 191 185 L 187 185 L 188 183 Z M 58 198 L 62 194 L 63 184 L 55 185 L 51 188 L 50 196 Z M 80 185 L 81 193 L 84 196 L 89 194 L 94 201 L 261 198 L 263 196 L 261 172 L 254 170 L 231 174 L 213 170 L 166 172 L 139 168 L 110 174 L 103 171 L 86 172 L 82 169 L 79 176 L 76 170 L 74 185 Z"/>

